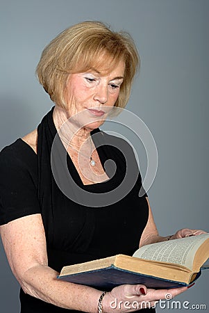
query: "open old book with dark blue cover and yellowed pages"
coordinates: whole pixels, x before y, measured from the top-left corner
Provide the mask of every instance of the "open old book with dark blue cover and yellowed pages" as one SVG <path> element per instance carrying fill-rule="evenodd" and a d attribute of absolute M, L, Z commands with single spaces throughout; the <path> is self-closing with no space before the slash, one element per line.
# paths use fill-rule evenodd
<path fill-rule="evenodd" d="M 65 266 L 58 278 L 98 289 L 120 284 L 144 284 L 155 289 L 182 287 L 199 278 L 208 258 L 209 233 L 152 243 L 139 248 L 133 257 L 115 255 Z"/>

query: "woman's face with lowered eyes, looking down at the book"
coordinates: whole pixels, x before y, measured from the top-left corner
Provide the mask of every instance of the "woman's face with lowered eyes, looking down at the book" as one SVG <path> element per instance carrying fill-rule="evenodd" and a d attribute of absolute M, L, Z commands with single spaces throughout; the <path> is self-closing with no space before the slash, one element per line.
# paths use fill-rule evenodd
<path fill-rule="evenodd" d="M 98 68 L 70 74 L 65 88 L 69 117 L 80 113 L 76 120 L 85 129 L 92 130 L 102 125 L 119 95 L 124 69 L 124 62 L 119 61 L 108 74 L 103 74 Z"/>

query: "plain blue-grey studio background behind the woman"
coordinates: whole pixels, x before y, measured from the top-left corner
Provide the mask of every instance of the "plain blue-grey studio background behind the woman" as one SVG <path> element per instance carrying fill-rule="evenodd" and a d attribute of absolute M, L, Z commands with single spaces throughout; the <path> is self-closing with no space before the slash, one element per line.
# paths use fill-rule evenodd
<path fill-rule="evenodd" d="M 133 35 L 142 59 L 127 109 L 144 120 L 158 147 L 149 191 L 158 230 L 209 231 L 208 13 L 207 0 L 1 0 L 0 147 L 35 129 L 51 108 L 34 74 L 49 40 L 83 20 L 107 22 Z M 143 149 L 135 138 L 134 145 L 144 174 Z M 0 310 L 19 312 L 18 285 L 2 246 L 0 255 Z M 208 280 L 209 271 L 176 300 L 209 310 Z"/>

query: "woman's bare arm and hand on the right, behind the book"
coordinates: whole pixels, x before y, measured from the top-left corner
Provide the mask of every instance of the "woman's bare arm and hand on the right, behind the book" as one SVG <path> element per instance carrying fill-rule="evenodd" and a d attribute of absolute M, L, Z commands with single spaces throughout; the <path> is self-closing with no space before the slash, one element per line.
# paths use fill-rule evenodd
<path fill-rule="evenodd" d="M 140 247 L 148 245 L 150 243 L 156 243 L 160 241 L 167 241 L 172 239 L 179 239 L 187 236 L 197 236 L 199 234 L 206 233 L 203 230 L 190 230 L 189 228 L 183 228 L 182 230 L 178 230 L 175 234 L 172 236 L 160 236 L 158 234 L 158 230 L 156 227 L 156 223 L 153 219 L 153 214 L 151 211 L 151 207 L 149 204 L 149 200 L 147 199 L 147 203 L 149 206 L 149 218 L 147 220 L 147 225 L 144 228 L 144 231 L 142 232 L 142 236 L 140 239 Z"/>

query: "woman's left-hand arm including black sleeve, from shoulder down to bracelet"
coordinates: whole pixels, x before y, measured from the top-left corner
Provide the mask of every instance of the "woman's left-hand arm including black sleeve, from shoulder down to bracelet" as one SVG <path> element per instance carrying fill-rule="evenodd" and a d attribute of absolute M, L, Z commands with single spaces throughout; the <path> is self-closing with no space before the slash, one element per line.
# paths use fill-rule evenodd
<path fill-rule="evenodd" d="M 61 282 L 48 266 L 33 165 L 31 154 L 16 144 L 0 154 L 0 232 L 12 272 L 26 294 L 58 307 L 97 312 L 101 291 Z"/>

